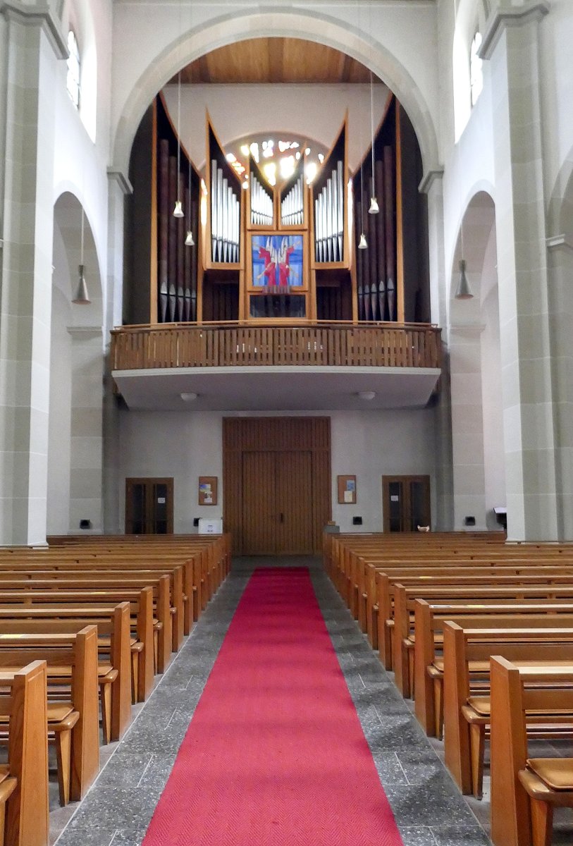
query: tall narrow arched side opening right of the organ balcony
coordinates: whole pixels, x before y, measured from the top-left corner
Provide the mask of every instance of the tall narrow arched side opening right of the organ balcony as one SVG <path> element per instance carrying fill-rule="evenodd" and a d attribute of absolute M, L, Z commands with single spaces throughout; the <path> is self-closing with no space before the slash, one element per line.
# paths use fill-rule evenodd
<path fill-rule="evenodd" d="M 463 228 L 463 250 L 462 250 Z M 467 263 L 473 298 L 457 300 L 458 262 Z M 481 529 L 499 529 L 493 513 L 505 506 L 505 449 L 499 349 L 495 204 L 486 190 L 465 206 L 450 280 L 450 382 L 454 449 L 455 528 L 468 516 Z"/>

